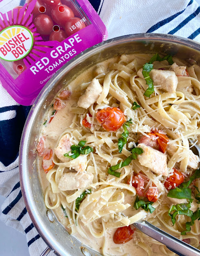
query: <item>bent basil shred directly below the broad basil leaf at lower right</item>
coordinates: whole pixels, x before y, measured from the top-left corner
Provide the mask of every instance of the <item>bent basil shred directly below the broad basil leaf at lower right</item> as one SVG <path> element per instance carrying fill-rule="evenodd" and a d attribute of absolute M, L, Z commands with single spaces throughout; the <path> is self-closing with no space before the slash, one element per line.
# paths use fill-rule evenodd
<path fill-rule="evenodd" d="M 170 210 L 168 211 L 168 214 L 172 219 L 173 226 L 176 222 L 176 215 L 177 214 L 183 214 L 183 215 L 186 215 L 186 216 L 189 216 L 189 217 L 192 216 L 193 212 L 191 210 L 189 210 L 190 207 L 191 207 L 190 202 L 188 204 L 176 204 L 176 205 L 172 205 L 170 207 Z M 171 212 L 173 212 L 173 213 L 171 214 Z"/>

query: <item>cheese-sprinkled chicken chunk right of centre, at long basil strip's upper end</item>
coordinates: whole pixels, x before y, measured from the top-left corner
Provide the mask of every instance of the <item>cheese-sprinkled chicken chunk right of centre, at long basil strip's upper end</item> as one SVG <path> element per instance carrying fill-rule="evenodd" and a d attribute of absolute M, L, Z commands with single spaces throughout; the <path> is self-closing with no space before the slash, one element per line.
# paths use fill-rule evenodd
<path fill-rule="evenodd" d="M 144 143 L 138 144 L 138 148 L 142 148 L 144 153 L 138 155 L 138 160 L 141 165 L 150 168 L 157 174 L 168 176 L 167 156 L 162 152 L 146 146 Z"/>

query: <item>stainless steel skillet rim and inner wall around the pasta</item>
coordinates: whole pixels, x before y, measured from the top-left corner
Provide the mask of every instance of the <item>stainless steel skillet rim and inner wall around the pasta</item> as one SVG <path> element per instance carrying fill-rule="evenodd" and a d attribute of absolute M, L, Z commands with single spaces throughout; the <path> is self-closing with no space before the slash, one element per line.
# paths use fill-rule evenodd
<path fill-rule="evenodd" d="M 44 204 L 36 164 L 36 143 L 46 109 L 64 84 L 68 84 L 90 66 L 120 54 L 148 52 L 172 54 L 185 62 L 193 59 L 200 64 L 200 44 L 186 38 L 164 34 L 135 34 L 114 38 L 82 52 L 63 66 L 46 84 L 30 110 L 20 145 L 20 185 L 26 209 L 34 226 L 50 250 L 58 256 L 83 256 L 84 249 L 56 218 L 50 222 L 47 217 L 48 209 Z M 101 256 L 90 248 L 87 250 L 90 256 Z"/>

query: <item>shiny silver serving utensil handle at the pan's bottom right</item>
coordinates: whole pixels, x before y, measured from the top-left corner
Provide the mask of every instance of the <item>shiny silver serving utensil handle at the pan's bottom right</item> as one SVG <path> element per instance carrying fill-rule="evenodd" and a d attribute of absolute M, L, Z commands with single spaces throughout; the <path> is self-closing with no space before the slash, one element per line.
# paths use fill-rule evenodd
<path fill-rule="evenodd" d="M 122 215 L 126 217 L 123 213 Z M 179 256 L 200 256 L 200 250 L 197 248 L 164 232 L 147 221 L 135 222 L 132 225 L 147 236 L 150 236 L 156 241 L 166 245 L 169 250 L 175 252 Z"/>

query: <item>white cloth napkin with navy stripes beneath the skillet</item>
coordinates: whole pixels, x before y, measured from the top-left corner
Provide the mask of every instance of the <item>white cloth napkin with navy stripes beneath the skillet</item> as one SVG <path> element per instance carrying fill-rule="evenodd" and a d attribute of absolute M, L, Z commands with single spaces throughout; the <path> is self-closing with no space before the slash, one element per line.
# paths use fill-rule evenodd
<path fill-rule="evenodd" d="M 14 0 L 23 5 L 25 0 Z M 109 38 L 155 32 L 175 34 L 200 42 L 200 7 L 194 0 L 90 0 L 108 29 Z M 34 228 L 22 198 L 18 149 L 30 107 L 17 104 L 0 86 L 0 194 L 1 220 L 26 234 L 31 256 L 40 256 L 46 244 Z M 53 256 L 53 252 L 50 252 Z"/>

